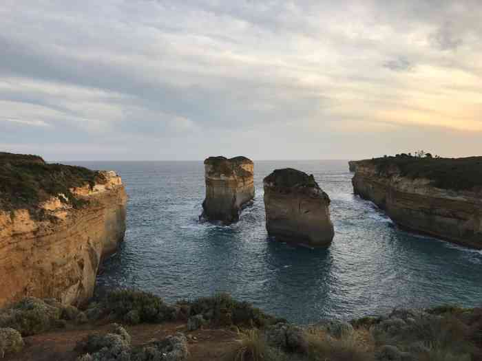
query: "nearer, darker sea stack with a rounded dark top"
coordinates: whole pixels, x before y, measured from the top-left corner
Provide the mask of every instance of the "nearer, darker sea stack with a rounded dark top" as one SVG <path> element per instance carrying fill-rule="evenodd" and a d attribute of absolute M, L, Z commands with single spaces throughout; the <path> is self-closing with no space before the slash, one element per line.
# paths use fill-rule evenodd
<path fill-rule="evenodd" d="M 277 169 L 264 178 L 266 230 L 280 241 L 330 245 L 334 231 L 330 197 L 313 175 L 293 168 Z"/>

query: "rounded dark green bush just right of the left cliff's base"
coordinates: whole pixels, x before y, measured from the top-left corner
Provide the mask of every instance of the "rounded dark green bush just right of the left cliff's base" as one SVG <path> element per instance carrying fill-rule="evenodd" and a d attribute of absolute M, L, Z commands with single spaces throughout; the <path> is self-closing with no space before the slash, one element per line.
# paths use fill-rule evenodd
<path fill-rule="evenodd" d="M 171 307 L 149 292 L 121 289 L 107 295 L 105 307 L 125 322 L 164 322 L 176 319 L 176 307 Z"/>

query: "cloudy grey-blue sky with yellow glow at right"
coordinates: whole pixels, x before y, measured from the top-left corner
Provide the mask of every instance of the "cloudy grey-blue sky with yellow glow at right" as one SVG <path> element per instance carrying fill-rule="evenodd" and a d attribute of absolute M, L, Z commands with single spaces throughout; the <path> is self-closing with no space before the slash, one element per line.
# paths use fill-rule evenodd
<path fill-rule="evenodd" d="M 0 150 L 482 155 L 480 0 L 1 0 Z"/>

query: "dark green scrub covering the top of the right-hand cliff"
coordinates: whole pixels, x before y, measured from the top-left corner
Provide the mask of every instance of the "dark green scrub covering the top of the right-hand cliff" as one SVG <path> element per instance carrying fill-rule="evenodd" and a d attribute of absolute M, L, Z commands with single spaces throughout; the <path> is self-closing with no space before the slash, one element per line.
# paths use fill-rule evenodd
<path fill-rule="evenodd" d="M 427 154 L 427 153 L 426 153 Z M 375 164 L 381 174 L 399 173 L 411 179 L 426 178 L 437 188 L 450 190 L 482 190 L 482 157 L 442 158 L 430 153 L 397 154 L 358 163 Z"/>

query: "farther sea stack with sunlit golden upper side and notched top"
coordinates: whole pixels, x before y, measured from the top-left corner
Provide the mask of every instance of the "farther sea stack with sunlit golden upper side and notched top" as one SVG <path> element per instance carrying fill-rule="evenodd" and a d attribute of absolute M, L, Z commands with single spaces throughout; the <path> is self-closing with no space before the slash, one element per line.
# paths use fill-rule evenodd
<path fill-rule="evenodd" d="M 223 224 L 238 221 L 242 207 L 254 198 L 253 169 L 253 161 L 247 157 L 207 158 L 201 217 Z"/>

